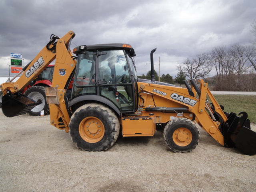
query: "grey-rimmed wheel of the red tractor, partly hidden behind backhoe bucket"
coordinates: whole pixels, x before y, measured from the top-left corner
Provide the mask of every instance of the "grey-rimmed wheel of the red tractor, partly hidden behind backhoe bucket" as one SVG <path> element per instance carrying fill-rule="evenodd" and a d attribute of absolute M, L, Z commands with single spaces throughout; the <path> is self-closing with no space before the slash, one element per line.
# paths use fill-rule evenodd
<path fill-rule="evenodd" d="M 28 88 L 24 95 L 26 95 L 28 98 L 31 98 L 35 101 L 41 100 L 42 103 L 35 106 L 32 110 L 28 112 L 28 114 L 32 116 L 40 116 L 41 111 L 44 110 L 44 115 L 47 115 L 50 113 L 49 105 L 46 102 L 46 96 L 45 96 L 45 87 L 42 86 L 33 86 Z"/>

